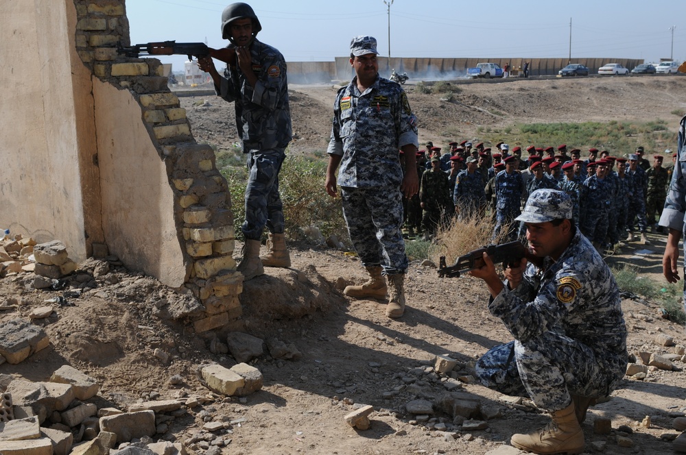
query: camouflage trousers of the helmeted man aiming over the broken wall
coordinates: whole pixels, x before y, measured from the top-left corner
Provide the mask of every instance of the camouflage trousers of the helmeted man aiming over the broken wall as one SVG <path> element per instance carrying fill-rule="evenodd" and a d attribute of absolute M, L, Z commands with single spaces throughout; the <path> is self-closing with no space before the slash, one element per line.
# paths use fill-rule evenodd
<path fill-rule="evenodd" d="M 246 239 L 259 240 L 265 226 L 273 234 L 283 234 L 279 171 L 284 158 L 283 149 L 248 153 L 246 221 L 241 225 L 241 231 Z"/>

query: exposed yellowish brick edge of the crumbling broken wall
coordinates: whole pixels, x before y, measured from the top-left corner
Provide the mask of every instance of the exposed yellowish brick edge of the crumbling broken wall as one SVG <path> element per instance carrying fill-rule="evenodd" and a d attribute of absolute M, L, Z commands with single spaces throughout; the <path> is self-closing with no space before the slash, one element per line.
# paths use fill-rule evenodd
<path fill-rule="evenodd" d="M 78 55 L 100 81 L 132 95 L 141 123 L 167 169 L 186 267 L 182 291 L 193 293 L 205 307 L 205 314 L 191 321 L 193 328 L 197 332 L 239 328 L 243 275 L 236 271 L 232 258 L 231 198 L 215 166 L 213 149 L 193 140 L 186 112 L 170 93 L 159 60 L 117 54 L 117 45 L 130 44 L 123 0 L 74 3 Z"/>

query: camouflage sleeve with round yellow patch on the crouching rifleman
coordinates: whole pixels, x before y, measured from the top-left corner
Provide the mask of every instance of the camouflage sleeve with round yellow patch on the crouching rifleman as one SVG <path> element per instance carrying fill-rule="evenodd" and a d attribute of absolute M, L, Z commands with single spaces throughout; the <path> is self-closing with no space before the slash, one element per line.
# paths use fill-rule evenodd
<path fill-rule="evenodd" d="M 548 280 L 539 288 L 530 301 L 533 286 L 528 280 L 523 280 L 512 291 L 505 286 L 488 304 L 488 310 L 503 321 L 515 339 L 526 343 L 554 328 L 578 305 L 578 292 L 582 289 L 580 279 L 578 275 L 560 271 L 554 280 Z"/>

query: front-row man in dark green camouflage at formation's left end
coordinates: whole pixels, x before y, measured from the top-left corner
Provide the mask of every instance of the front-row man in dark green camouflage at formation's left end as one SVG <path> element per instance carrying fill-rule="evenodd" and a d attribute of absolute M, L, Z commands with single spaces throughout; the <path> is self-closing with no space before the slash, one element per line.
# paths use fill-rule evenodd
<path fill-rule="evenodd" d="M 422 182 L 419 185 L 419 201 L 424 210 L 422 227 L 427 240 L 431 236 L 436 236 L 438 225 L 441 224 L 449 206 L 450 184 L 448 176 L 440 169 L 440 164 L 440 158 L 431 158 L 431 170 L 422 175 Z"/>

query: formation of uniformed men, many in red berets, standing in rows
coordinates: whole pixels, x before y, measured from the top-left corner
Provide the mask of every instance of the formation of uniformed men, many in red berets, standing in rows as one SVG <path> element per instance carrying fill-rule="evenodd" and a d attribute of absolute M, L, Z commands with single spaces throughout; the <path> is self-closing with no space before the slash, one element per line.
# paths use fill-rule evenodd
<path fill-rule="evenodd" d="M 662 232 L 657 220 L 670 184 L 676 153 L 643 158 L 643 147 L 615 157 L 591 148 L 582 159 L 580 149 L 535 147 L 522 150 L 498 143 L 451 142 L 449 150 L 428 142 L 418 151 L 418 195 L 404 201 L 408 236 L 430 239 L 453 217 L 490 217 L 493 240 L 512 241 L 525 235 L 513 220 L 528 195 L 540 188 L 565 191 L 571 197 L 573 220 L 599 251 L 615 251 L 623 241 L 648 244 L 646 232 Z M 522 152 L 527 153 L 526 158 Z M 663 167 L 663 161 L 672 163 Z"/>

